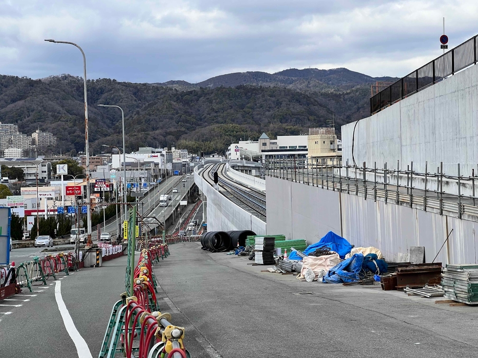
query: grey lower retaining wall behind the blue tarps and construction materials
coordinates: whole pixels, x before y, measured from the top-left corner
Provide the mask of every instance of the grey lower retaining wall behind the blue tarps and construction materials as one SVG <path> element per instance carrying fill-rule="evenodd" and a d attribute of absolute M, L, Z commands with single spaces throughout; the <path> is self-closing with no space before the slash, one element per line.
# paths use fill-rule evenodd
<path fill-rule="evenodd" d="M 478 264 L 478 223 L 277 178 L 266 183 L 268 234 L 312 244 L 331 230 L 355 246 L 377 247 L 388 260 L 405 260 L 410 246 L 424 246 L 431 262 L 453 229 L 436 261 Z"/>

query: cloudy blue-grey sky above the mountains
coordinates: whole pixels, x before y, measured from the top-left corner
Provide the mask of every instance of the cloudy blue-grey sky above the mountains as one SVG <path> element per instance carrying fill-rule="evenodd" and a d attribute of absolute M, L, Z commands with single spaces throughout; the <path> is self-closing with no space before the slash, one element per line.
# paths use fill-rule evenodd
<path fill-rule="evenodd" d="M 478 2 L 0 0 L 0 74 L 130 82 L 347 67 L 401 77 L 478 33 Z"/>

